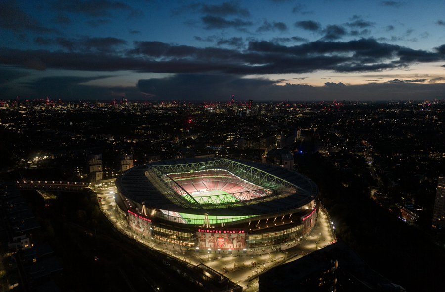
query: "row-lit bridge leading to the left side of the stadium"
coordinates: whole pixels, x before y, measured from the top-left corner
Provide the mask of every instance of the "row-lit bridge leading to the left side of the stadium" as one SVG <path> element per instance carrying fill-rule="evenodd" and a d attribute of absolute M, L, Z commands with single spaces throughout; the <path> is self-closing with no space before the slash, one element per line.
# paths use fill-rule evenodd
<path fill-rule="evenodd" d="M 42 190 L 59 192 L 83 192 L 90 188 L 87 182 L 59 181 L 59 180 L 17 180 L 15 182 L 21 190 Z"/>

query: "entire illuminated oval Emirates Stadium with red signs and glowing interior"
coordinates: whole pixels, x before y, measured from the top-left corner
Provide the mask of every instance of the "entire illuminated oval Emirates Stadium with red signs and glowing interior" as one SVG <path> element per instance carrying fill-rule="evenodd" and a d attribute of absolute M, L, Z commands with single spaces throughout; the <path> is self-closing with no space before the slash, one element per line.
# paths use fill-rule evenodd
<path fill-rule="evenodd" d="M 146 239 L 218 253 L 295 246 L 317 219 L 317 186 L 282 167 L 224 158 L 160 161 L 116 179 L 116 202 Z"/>

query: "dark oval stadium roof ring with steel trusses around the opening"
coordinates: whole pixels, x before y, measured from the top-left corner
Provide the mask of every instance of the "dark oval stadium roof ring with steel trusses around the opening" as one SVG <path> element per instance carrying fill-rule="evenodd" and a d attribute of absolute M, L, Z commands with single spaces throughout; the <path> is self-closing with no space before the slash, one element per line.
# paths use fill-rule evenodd
<path fill-rule="evenodd" d="M 169 188 L 160 174 L 191 170 L 225 168 L 254 184 L 276 188 L 272 196 L 225 204 L 193 204 Z M 148 171 L 147 171 L 148 170 Z M 179 171 L 181 170 L 181 171 Z M 247 173 L 249 172 L 249 174 Z M 116 180 L 118 190 L 126 197 L 147 207 L 180 213 L 216 216 L 246 216 L 279 213 L 311 202 L 318 194 L 317 186 L 295 171 L 272 165 L 224 158 L 185 158 L 159 161 L 134 167 Z M 280 193 L 280 186 L 292 187 L 291 194 Z"/>

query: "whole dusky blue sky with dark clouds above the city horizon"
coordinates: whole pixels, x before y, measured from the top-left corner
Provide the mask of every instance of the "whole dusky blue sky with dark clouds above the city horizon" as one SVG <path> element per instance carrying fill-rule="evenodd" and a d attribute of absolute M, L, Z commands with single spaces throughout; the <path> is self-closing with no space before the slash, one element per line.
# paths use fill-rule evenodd
<path fill-rule="evenodd" d="M 0 3 L 0 99 L 445 98 L 445 2 Z"/>

